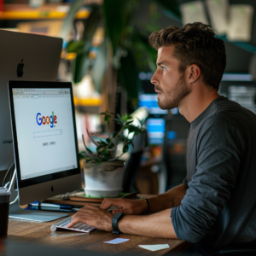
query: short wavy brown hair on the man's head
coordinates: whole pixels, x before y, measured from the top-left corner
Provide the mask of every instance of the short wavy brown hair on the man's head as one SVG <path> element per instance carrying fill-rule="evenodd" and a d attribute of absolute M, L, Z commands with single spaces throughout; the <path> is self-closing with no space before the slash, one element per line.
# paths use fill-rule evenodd
<path fill-rule="evenodd" d="M 224 41 L 215 38 L 212 27 L 201 22 L 188 23 L 183 28 L 169 26 L 153 32 L 148 42 L 154 49 L 175 45 L 174 56 L 180 61 L 179 71 L 192 64 L 201 68 L 203 82 L 218 90 L 226 67 Z"/>

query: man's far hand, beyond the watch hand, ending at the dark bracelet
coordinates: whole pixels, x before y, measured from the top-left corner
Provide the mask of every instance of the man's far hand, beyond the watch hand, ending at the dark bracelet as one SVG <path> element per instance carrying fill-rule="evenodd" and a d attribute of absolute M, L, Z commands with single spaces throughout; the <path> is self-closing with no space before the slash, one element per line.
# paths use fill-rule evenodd
<path fill-rule="evenodd" d="M 115 212 L 122 212 L 127 215 L 140 215 L 143 212 L 146 212 L 148 209 L 148 205 L 143 200 L 131 200 L 125 198 L 116 198 L 110 199 L 105 198 L 102 201 L 101 209 L 107 210 L 109 207 L 118 207 L 118 209 L 113 210 L 112 214 Z"/>

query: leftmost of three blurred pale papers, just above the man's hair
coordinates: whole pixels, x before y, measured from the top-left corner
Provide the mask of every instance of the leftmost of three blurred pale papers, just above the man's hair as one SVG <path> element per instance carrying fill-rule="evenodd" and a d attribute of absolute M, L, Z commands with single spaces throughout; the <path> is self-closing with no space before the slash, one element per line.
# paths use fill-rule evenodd
<path fill-rule="evenodd" d="M 201 1 L 183 3 L 181 4 L 180 9 L 183 17 L 183 25 L 196 21 L 208 24 L 204 5 Z"/>

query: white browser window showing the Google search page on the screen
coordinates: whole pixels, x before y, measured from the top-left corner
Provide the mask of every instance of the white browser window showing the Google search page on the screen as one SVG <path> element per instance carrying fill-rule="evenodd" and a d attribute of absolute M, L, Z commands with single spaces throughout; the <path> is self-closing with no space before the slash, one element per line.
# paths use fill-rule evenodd
<path fill-rule="evenodd" d="M 70 89 L 13 89 L 21 180 L 77 168 Z"/>

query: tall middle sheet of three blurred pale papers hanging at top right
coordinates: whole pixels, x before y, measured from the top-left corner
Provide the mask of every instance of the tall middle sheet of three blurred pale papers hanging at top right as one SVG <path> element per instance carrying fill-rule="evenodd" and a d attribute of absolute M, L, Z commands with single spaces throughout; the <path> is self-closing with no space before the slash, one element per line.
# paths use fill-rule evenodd
<path fill-rule="evenodd" d="M 225 34 L 228 29 L 228 0 L 207 0 L 207 9 L 212 26 L 219 35 Z"/>

